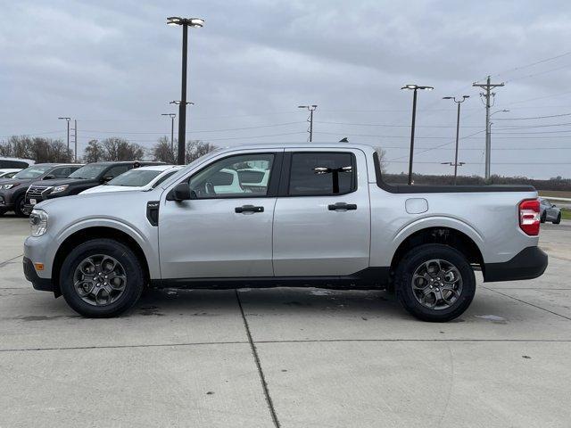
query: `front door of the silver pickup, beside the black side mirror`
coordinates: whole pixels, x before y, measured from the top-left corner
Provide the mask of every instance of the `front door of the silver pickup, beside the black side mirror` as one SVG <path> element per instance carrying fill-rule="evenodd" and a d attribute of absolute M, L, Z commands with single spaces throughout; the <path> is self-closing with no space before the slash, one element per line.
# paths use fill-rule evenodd
<path fill-rule="evenodd" d="M 273 276 L 272 221 L 282 154 L 225 155 L 187 177 L 192 200 L 159 210 L 163 279 Z M 268 171 L 267 185 L 242 185 L 241 169 Z M 165 192 L 166 193 L 166 192 Z"/>

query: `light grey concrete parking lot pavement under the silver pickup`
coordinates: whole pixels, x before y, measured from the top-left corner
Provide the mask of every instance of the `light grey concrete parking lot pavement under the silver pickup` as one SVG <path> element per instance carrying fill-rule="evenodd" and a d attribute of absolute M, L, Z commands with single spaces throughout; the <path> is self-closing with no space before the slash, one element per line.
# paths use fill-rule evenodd
<path fill-rule="evenodd" d="M 21 273 L 0 218 L 0 426 L 568 427 L 571 224 L 544 276 L 422 323 L 385 292 L 148 292 L 85 319 Z M 478 275 L 479 277 L 479 275 Z"/>

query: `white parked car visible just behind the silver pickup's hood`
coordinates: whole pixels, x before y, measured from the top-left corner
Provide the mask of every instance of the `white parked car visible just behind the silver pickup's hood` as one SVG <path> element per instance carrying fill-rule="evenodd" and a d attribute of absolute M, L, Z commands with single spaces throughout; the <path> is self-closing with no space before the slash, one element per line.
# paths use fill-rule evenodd
<path fill-rule="evenodd" d="M 127 172 L 113 178 L 103 185 L 97 185 L 81 193 L 124 192 L 127 190 L 150 190 L 160 185 L 164 180 L 172 176 L 182 166 L 153 165 L 137 169 L 129 169 Z"/>

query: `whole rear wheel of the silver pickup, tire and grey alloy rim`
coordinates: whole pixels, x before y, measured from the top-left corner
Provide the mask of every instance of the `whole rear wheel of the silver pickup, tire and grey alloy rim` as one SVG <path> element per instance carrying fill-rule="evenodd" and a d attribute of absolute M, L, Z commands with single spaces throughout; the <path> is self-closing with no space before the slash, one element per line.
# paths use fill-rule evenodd
<path fill-rule="evenodd" d="M 448 245 L 428 243 L 410 250 L 395 272 L 397 298 L 423 321 L 459 317 L 474 299 L 476 276 L 464 255 Z"/>

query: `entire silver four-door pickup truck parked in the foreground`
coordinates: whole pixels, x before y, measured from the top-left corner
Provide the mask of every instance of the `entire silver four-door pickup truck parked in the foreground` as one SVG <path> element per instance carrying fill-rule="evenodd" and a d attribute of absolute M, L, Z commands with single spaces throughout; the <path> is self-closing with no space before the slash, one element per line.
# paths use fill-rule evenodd
<path fill-rule="evenodd" d="M 542 275 L 539 213 L 531 186 L 388 185 L 367 145 L 261 144 L 149 191 L 37 204 L 23 264 L 87 317 L 119 315 L 145 287 L 282 285 L 394 290 L 413 316 L 447 321 L 474 298 L 475 268 Z"/>

